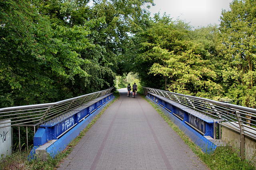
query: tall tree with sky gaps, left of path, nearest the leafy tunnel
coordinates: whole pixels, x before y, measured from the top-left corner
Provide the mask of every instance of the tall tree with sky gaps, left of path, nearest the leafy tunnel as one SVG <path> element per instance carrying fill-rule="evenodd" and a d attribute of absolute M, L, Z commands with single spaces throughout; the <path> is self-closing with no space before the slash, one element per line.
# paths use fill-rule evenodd
<path fill-rule="evenodd" d="M 94 1 L 90 9 L 80 6 L 78 10 L 71 12 L 69 22 L 72 25 L 91 26 L 88 37 L 94 47 L 79 51 L 82 58 L 89 59 L 93 63 L 89 67 L 84 66 L 91 75 L 80 81 L 86 84 L 86 89 L 93 86 L 99 89 L 106 85 L 114 85 L 115 75 L 124 74 L 127 61 L 123 55 L 128 49 L 129 34 L 140 29 L 143 18 L 141 16 L 144 14 L 140 6 L 146 2 L 152 3 L 152 0 Z M 96 76 L 98 74 L 105 76 L 98 78 Z"/>

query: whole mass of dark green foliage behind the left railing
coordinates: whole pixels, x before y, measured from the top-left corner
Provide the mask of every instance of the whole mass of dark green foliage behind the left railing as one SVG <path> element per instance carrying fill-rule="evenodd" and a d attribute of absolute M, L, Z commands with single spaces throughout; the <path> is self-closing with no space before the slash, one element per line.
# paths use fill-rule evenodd
<path fill-rule="evenodd" d="M 106 89 L 122 74 L 129 32 L 152 0 L 0 2 L 0 107 Z"/>

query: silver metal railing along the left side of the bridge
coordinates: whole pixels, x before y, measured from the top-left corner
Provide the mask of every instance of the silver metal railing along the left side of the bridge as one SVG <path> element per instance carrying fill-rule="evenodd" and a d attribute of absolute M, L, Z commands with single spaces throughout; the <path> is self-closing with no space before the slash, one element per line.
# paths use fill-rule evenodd
<path fill-rule="evenodd" d="M 108 88 L 107 90 L 102 90 L 55 103 L 0 108 L 0 121 L 10 120 L 10 122 L 8 122 L 10 125 L 7 125 L 6 122 L 0 122 L 0 125 L 2 125 L 1 127 L 18 127 L 20 149 L 20 127 L 26 127 L 26 142 L 28 147 L 28 127 L 34 128 L 35 134 L 36 127 L 38 128 L 38 126 L 42 125 L 44 122 L 54 119 L 55 117 L 82 106 L 96 98 L 104 96 L 105 94 L 109 94 L 112 89 L 114 88 Z"/>

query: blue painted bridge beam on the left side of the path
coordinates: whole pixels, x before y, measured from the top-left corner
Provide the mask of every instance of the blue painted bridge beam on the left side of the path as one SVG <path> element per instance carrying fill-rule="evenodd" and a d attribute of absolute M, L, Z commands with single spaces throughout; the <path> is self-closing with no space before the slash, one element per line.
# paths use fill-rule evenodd
<path fill-rule="evenodd" d="M 36 151 L 42 152 L 43 157 L 47 153 L 54 157 L 64 150 L 114 98 L 113 93 L 106 94 L 40 125 L 34 135 L 34 148 L 28 159 L 34 159 Z"/>

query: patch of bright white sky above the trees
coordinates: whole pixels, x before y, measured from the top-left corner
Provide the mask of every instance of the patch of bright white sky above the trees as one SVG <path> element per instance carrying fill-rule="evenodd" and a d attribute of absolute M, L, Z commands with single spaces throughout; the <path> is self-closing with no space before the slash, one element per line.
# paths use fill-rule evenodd
<path fill-rule="evenodd" d="M 206 27 L 208 24 L 220 24 L 222 9 L 230 10 L 232 0 L 154 0 L 155 6 L 149 11 L 170 14 L 170 18 L 184 20 L 193 27 Z"/>

